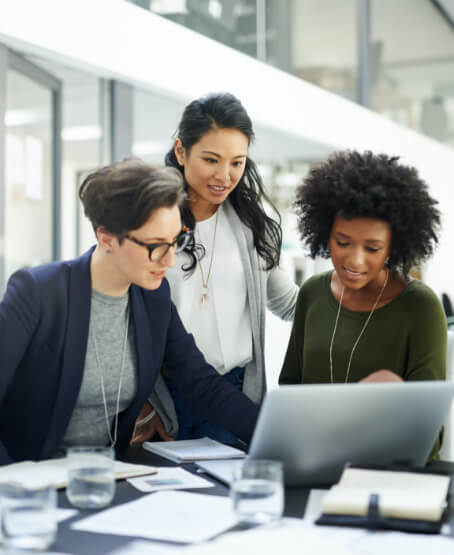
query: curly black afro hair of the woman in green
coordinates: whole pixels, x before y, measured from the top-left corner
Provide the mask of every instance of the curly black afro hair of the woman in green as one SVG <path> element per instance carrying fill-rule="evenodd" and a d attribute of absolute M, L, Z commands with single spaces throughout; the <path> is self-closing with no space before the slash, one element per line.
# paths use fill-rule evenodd
<path fill-rule="evenodd" d="M 294 208 L 312 258 L 330 257 L 329 236 L 337 216 L 388 222 L 392 238 L 387 265 L 404 276 L 433 253 L 440 228 L 438 201 L 416 169 L 398 161 L 398 156 L 343 151 L 309 172 Z"/>

